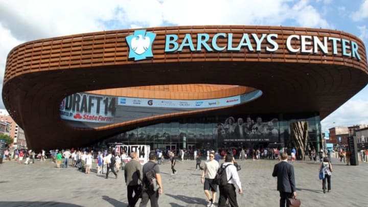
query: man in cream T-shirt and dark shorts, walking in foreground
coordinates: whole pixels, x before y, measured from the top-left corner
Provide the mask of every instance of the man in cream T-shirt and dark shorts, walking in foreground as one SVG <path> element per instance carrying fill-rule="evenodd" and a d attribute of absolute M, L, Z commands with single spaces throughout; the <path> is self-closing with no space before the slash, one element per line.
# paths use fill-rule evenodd
<path fill-rule="evenodd" d="M 217 184 L 214 181 L 216 177 L 217 169 L 219 168 L 218 162 L 214 159 L 215 153 L 211 152 L 209 154 L 209 160 L 204 163 L 204 168 L 201 176 L 201 183 L 204 184 L 203 190 L 206 197 L 209 199 L 207 207 L 214 207 L 216 200 Z M 210 195 L 212 192 L 212 197 Z"/>

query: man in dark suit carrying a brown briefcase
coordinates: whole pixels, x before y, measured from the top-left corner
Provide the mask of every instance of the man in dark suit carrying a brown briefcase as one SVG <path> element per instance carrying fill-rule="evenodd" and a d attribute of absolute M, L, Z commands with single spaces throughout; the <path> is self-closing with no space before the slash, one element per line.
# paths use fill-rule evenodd
<path fill-rule="evenodd" d="M 294 166 L 287 162 L 288 154 L 281 154 L 281 162 L 273 168 L 272 176 L 278 178 L 277 190 L 280 192 L 280 207 L 289 207 L 288 198 L 296 196 Z"/>

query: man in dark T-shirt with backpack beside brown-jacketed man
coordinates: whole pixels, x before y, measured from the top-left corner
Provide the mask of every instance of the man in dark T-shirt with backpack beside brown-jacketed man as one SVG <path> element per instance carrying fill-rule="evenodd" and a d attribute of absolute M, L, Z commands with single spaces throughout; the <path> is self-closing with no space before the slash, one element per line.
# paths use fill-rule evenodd
<path fill-rule="evenodd" d="M 147 206 L 148 200 L 151 201 L 151 207 L 158 207 L 158 195 L 163 194 L 163 186 L 161 182 L 161 175 L 159 174 L 158 165 L 155 163 L 156 160 L 156 152 L 150 151 L 148 155 L 149 162 L 144 164 L 143 166 L 143 192 L 142 192 L 142 200 L 140 203 L 140 207 Z M 148 178 L 147 175 L 151 174 L 154 171 L 154 177 Z M 152 183 L 156 182 L 156 183 Z M 151 185 L 158 185 L 158 190 L 154 190 Z"/>

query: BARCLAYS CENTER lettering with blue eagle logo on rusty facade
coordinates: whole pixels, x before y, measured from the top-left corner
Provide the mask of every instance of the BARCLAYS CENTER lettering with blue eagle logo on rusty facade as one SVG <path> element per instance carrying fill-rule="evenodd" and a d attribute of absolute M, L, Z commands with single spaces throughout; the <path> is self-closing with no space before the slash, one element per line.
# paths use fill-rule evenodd
<path fill-rule="evenodd" d="M 220 53 L 222 51 L 261 53 L 274 53 L 279 50 L 280 39 L 278 34 L 274 33 L 243 33 L 240 41 L 235 41 L 233 33 L 188 33 L 179 38 L 176 34 L 166 34 L 165 36 L 165 53 L 180 53 L 183 49 L 189 49 L 191 52 L 200 53 L 202 49 L 207 52 Z M 146 32 L 146 30 L 135 30 L 134 34 L 126 37 L 129 45 L 129 58 L 134 61 L 144 60 L 153 57 L 152 44 L 156 37 L 153 32 Z M 225 40 L 226 44 L 218 44 L 218 40 Z M 361 60 L 359 45 L 355 41 L 344 38 L 329 37 L 329 36 L 311 36 L 311 35 L 297 35 L 292 34 L 287 38 L 282 38 L 285 41 L 286 49 L 289 53 L 301 54 L 317 54 L 324 55 L 342 55 L 344 57 L 355 58 Z M 295 42 L 298 42 L 295 44 Z M 255 43 L 255 44 L 252 44 Z M 341 48 L 341 50 L 338 50 Z M 283 50 L 283 49 L 281 49 Z"/>

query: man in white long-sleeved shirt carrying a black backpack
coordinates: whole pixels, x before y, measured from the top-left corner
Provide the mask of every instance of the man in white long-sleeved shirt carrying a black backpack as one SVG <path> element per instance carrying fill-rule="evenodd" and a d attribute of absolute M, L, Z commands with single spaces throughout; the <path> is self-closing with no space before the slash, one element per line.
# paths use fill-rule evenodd
<path fill-rule="evenodd" d="M 243 193 L 240 178 L 238 175 L 237 168 L 234 165 L 234 157 L 232 154 L 227 154 L 225 156 L 225 163 L 223 163 L 219 169 L 219 172 L 222 170 L 221 175 L 217 175 L 218 178 L 225 177 L 226 180 L 220 183 L 220 196 L 218 206 L 223 207 L 226 206 L 226 200 L 228 199 L 230 205 L 232 207 L 238 207 L 238 201 L 236 199 L 236 188 L 235 185 L 238 186 L 239 193 Z M 219 174 L 218 172 L 218 174 Z"/>

